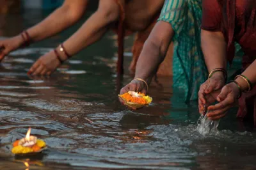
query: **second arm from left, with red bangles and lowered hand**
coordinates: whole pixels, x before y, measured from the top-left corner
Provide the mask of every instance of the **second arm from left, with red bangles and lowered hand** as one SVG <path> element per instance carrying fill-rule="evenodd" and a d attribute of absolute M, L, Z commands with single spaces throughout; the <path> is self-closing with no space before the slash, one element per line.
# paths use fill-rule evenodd
<path fill-rule="evenodd" d="M 124 0 L 120 2 L 124 3 Z M 68 58 L 67 54 L 73 56 L 88 45 L 99 40 L 111 24 L 118 20 L 119 11 L 119 6 L 115 1 L 100 0 L 97 12 L 93 13 L 83 26 L 63 43 L 63 47 L 65 47 L 67 53 L 61 52 L 60 48 L 58 48 L 57 51 L 60 56 L 58 61 L 56 60 L 54 50 L 52 50 L 40 57 L 30 68 L 29 73 L 33 73 L 33 75 L 51 74 L 60 65 L 60 60 L 65 61 Z"/>

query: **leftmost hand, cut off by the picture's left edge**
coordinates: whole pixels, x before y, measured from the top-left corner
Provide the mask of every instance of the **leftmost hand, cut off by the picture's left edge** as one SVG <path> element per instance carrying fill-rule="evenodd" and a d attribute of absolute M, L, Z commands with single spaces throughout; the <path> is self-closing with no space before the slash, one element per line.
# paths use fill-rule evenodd
<path fill-rule="evenodd" d="M 23 43 L 22 36 L 14 36 L 5 40 L 0 40 L 0 62 L 13 50 L 18 49 Z"/>

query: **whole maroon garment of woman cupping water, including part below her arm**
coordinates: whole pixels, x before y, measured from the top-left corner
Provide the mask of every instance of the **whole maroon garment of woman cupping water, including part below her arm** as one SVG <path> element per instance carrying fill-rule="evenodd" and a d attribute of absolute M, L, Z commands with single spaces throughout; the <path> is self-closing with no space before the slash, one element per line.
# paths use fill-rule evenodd
<path fill-rule="evenodd" d="M 244 51 L 243 69 L 247 68 L 256 56 L 256 15 L 255 0 L 203 0 L 202 29 L 221 31 L 227 42 L 227 58 L 231 63 L 235 55 L 234 42 Z M 221 3 L 220 3 L 221 2 Z M 237 117 L 254 115 L 256 125 L 256 88 L 244 93 L 239 99 Z"/>

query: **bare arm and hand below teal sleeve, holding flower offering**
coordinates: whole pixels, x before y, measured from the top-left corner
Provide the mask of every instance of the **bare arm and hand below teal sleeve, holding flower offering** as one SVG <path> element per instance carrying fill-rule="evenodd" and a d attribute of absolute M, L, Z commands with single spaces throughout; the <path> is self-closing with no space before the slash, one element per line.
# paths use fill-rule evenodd
<path fill-rule="evenodd" d="M 134 79 L 143 79 L 149 85 L 157 72 L 158 66 L 166 56 L 174 31 L 171 24 L 164 21 L 157 22 L 152 29 L 141 51 Z M 141 91 L 147 93 L 147 86 L 143 81 L 134 80 L 121 89 L 120 94 L 127 91 Z"/>

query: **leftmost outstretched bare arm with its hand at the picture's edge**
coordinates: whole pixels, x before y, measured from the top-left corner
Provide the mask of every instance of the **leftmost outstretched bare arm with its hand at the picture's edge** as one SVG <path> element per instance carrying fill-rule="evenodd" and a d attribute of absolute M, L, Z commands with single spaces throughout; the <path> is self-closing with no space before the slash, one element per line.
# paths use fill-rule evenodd
<path fill-rule="evenodd" d="M 88 0 L 65 0 L 63 5 L 39 24 L 29 28 L 28 34 L 32 42 L 40 41 L 55 35 L 63 29 L 72 26 L 81 18 Z M 25 35 L 24 35 L 25 38 Z M 26 38 L 28 40 L 28 37 Z M 22 35 L 13 36 L 0 41 L 0 62 L 4 56 L 24 44 Z"/>

